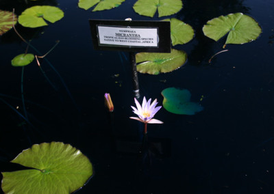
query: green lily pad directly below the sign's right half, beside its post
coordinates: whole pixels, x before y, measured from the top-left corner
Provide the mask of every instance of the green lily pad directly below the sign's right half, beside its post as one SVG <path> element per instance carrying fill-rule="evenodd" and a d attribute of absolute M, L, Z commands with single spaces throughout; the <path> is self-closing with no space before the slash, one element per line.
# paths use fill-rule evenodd
<path fill-rule="evenodd" d="M 137 71 L 148 74 L 172 72 L 186 63 L 184 51 L 171 49 L 171 53 L 137 53 Z"/>

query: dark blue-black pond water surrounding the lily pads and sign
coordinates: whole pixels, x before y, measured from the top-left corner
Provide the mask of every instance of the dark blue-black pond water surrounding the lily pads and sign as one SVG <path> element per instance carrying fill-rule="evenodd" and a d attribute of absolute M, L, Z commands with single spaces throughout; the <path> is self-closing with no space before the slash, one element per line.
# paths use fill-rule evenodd
<path fill-rule="evenodd" d="M 188 61 L 171 73 L 138 74 L 140 92 L 162 104 L 162 89 L 186 88 L 193 101 L 204 96 L 204 110 L 190 116 L 160 109 L 155 118 L 164 124 L 148 126 L 149 151 L 143 157 L 136 154 L 142 124 L 129 120 L 134 95 L 128 53 L 93 50 L 88 19 L 159 18 L 139 16 L 130 0 L 102 12 L 79 9 L 77 1 L 24 2 L 1 0 L 0 9 L 15 7 L 20 14 L 30 5 L 56 5 L 65 16 L 48 27 L 16 26 L 40 54 L 60 40 L 48 61 L 40 61 L 55 89 L 35 62 L 25 67 L 25 104 L 35 127 L 22 126 L 22 117 L 8 106 L 23 114 L 22 68 L 10 61 L 26 45 L 13 30 L 0 38 L 1 171 L 19 169 L 8 161 L 34 143 L 62 141 L 86 154 L 95 168 L 77 193 L 274 193 L 274 1 L 183 1 L 184 8 L 171 17 L 195 29 L 191 42 L 175 46 L 188 53 Z M 225 40 L 203 36 L 203 25 L 236 12 L 255 18 L 262 34 L 248 44 L 227 45 L 229 51 L 208 64 Z M 112 118 L 105 111 L 105 92 L 114 102 Z"/>

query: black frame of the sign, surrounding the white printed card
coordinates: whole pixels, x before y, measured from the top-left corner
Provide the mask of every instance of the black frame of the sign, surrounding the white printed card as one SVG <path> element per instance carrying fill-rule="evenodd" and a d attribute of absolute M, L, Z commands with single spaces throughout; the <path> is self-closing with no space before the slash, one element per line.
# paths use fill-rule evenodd
<path fill-rule="evenodd" d="M 92 42 L 95 50 L 129 51 L 147 53 L 171 53 L 171 24 L 170 21 L 144 20 L 89 20 Z M 98 27 L 127 27 L 127 28 L 157 28 L 158 47 L 121 46 L 99 44 Z"/>

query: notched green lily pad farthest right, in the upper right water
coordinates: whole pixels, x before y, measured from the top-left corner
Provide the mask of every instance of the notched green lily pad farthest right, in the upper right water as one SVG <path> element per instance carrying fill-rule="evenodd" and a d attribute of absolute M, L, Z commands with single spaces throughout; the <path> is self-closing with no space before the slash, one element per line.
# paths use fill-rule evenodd
<path fill-rule="evenodd" d="M 244 44 L 256 40 L 262 29 L 250 16 L 242 13 L 228 14 L 209 20 L 203 26 L 203 33 L 208 38 L 218 41 L 228 33 L 225 44 Z"/>

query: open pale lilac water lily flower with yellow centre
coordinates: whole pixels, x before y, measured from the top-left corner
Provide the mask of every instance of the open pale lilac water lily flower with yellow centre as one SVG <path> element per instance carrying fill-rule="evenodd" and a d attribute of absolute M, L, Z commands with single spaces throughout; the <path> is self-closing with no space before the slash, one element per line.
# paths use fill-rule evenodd
<path fill-rule="evenodd" d="M 157 99 L 155 99 L 152 102 L 152 104 L 150 104 L 151 98 L 147 101 L 146 98 L 144 97 L 144 99 L 142 100 L 142 107 L 141 107 L 140 103 L 138 102 L 138 100 L 136 100 L 136 98 L 134 98 L 134 100 L 135 100 L 137 109 L 135 107 L 132 107 L 132 109 L 134 110 L 133 112 L 136 113 L 136 115 L 138 115 L 138 117 L 129 117 L 129 118 L 138 120 L 145 124 L 147 124 L 147 123 L 162 124 L 163 123 L 160 120 L 153 119 L 153 116 L 155 115 L 155 113 L 157 113 L 161 108 L 161 106 L 156 107 L 156 105 L 158 104 Z"/>

